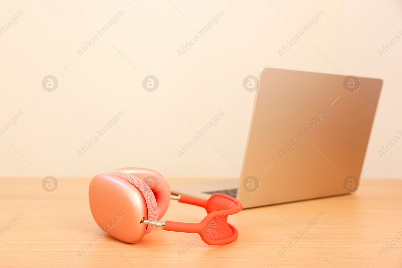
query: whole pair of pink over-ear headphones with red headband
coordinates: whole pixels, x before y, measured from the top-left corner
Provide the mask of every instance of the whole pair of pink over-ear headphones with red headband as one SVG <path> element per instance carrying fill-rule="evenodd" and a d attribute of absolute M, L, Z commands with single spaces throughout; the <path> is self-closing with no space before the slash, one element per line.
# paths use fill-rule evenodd
<path fill-rule="evenodd" d="M 231 243 L 238 237 L 238 231 L 227 219 L 228 215 L 242 210 L 240 201 L 219 193 L 207 200 L 171 195 L 163 176 L 148 168 L 119 168 L 109 174 L 98 174 L 89 184 L 88 196 L 98 226 L 125 243 L 141 240 L 155 227 L 198 233 L 208 245 Z M 159 221 L 166 213 L 170 199 L 203 207 L 208 215 L 199 223 Z"/>

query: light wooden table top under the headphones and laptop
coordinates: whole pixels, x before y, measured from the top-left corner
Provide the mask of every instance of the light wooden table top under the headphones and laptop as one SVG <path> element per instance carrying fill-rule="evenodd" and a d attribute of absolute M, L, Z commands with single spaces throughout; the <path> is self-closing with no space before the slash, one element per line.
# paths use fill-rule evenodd
<path fill-rule="evenodd" d="M 18 218 L 0 238 L 1 267 L 402 266 L 402 241 L 394 240 L 402 239 L 402 180 L 362 180 L 355 194 L 245 209 L 229 217 L 239 231 L 236 241 L 220 246 L 199 241 L 181 258 L 178 252 L 196 235 L 160 228 L 136 244 L 105 235 L 80 258 L 77 252 L 100 231 L 88 203 L 90 178 L 59 178 L 55 192 L 45 192 L 42 179 L 0 179 L 0 228 Z M 321 211 L 325 216 L 318 225 L 301 236 Z M 172 200 L 164 219 L 199 222 L 204 216 L 204 209 Z"/>

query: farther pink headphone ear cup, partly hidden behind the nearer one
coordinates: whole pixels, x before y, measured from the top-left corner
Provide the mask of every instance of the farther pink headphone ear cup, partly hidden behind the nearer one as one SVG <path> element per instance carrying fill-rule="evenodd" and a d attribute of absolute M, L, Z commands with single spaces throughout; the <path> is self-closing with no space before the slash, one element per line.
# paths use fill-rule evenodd
<path fill-rule="evenodd" d="M 154 193 L 158 206 L 158 221 L 168 210 L 170 204 L 170 186 L 165 178 L 155 170 L 148 168 L 119 168 L 115 171 L 131 174 L 144 181 Z"/>

